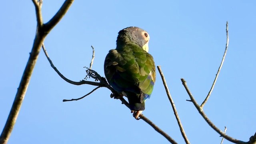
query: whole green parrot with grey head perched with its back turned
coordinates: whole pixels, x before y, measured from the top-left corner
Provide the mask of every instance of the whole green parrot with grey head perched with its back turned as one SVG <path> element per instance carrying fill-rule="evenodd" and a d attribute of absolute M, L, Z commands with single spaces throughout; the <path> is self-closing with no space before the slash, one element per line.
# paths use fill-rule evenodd
<path fill-rule="evenodd" d="M 136 119 L 145 110 L 145 100 L 156 81 L 154 60 L 148 53 L 149 38 L 148 32 L 138 27 L 120 30 L 116 49 L 109 51 L 104 63 L 108 83 L 128 98 Z"/>

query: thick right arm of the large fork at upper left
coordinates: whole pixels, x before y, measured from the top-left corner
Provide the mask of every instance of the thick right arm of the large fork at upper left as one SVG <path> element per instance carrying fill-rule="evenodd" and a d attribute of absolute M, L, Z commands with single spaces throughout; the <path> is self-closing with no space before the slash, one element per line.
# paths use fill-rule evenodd
<path fill-rule="evenodd" d="M 52 17 L 52 19 L 44 24 L 44 30 L 46 32 L 50 32 L 50 30 L 52 30 L 52 28 L 63 18 L 73 2 L 74 0 L 65 0 L 65 2 L 62 4 L 58 12 Z"/>

